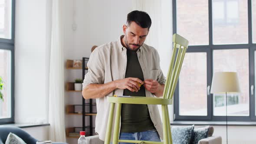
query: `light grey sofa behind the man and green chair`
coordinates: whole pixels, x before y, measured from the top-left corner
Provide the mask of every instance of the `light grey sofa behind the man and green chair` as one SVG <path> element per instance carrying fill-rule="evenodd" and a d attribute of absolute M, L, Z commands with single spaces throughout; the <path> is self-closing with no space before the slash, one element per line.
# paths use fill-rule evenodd
<path fill-rule="evenodd" d="M 195 127 L 198 128 L 198 127 Z M 213 136 L 214 128 L 209 126 L 207 138 L 203 138 L 198 141 L 198 144 L 222 144 L 220 136 Z M 86 137 L 88 144 L 104 144 L 104 141 L 99 139 L 98 135 Z"/>

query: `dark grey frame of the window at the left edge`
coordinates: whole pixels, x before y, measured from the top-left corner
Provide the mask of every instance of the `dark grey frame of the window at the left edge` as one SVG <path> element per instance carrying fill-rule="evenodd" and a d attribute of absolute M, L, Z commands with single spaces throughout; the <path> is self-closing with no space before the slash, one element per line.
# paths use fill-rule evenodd
<path fill-rule="evenodd" d="M 10 50 L 11 52 L 11 118 L 0 118 L 0 124 L 14 123 L 14 30 L 15 30 L 15 0 L 11 6 L 11 39 L 0 38 L 0 49 Z"/>

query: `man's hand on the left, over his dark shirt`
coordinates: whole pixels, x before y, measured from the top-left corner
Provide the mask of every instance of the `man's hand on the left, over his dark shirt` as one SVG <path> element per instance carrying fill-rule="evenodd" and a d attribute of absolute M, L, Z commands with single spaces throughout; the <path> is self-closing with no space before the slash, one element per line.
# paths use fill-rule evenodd
<path fill-rule="evenodd" d="M 140 89 L 139 83 L 141 85 L 144 84 L 140 79 L 138 78 L 125 78 L 120 80 L 115 80 L 115 87 L 119 89 L 128 89 L 131 92 L 138 92 Z"/>

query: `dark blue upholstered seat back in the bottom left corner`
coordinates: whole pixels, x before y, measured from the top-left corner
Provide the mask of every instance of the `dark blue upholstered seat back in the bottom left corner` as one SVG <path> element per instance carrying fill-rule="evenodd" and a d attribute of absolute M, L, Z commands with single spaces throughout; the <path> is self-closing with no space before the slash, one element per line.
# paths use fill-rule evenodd
<path fill-rule="evenodd" d="M 36 144 L 36 141 L 39 141 L 28 134 L 21 128 L 14 126 L 0 126 L 0 144 L 4 144 L 9 133 L 16 134 L 20 137 L 26 144 Z M 67 144 L 61 142 L 53 142 L 53 144 Z"/>

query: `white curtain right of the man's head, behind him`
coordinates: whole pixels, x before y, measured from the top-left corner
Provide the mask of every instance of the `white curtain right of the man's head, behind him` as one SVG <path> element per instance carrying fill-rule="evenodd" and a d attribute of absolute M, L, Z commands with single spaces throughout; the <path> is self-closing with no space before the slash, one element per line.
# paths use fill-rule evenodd
<path fill-rule="evenodd" d="M 151 17 L 152 24 L 145 43 L 158 50 L 160 66 L 166 76 L 172 52 L 172 1 L 132 0 L 132 10 L 144 11 Z M 161 107 L 159 111 L 161 112 Z M 172 121 L 172 106 L 169 107 L 169 113 Z"/>

